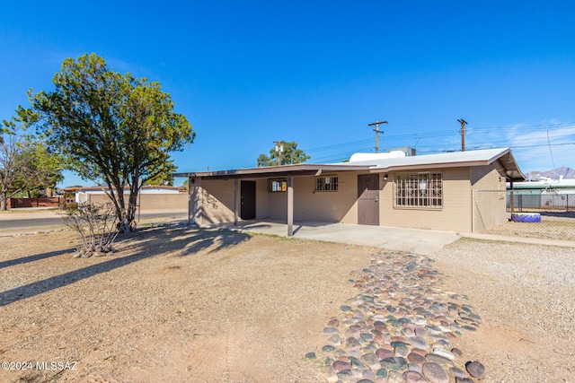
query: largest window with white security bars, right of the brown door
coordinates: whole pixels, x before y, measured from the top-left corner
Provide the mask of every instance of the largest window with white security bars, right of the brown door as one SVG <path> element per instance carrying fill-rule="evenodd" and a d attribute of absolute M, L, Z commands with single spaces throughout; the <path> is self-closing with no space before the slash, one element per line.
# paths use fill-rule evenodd
<path fill-rule="evenodd" d="M 443 207 L 441 173 L 395 176 L 395 206 L 440 209 Z"/>

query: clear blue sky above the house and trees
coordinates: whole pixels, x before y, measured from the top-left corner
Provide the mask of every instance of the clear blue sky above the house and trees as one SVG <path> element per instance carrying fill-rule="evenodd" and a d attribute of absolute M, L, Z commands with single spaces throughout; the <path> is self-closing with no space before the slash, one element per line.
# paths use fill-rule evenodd
<path fill-rule="evenodd" d="M 0 4 L 0 118 L 95 52 L 162 83 L 197 138 L 178 171 L 254 167 L 273 141 L 311 162 L 511 147 L 575 168 L 575 2 L 189 1 Z M 71 173 L 61 186 L 90 185 Z"/>

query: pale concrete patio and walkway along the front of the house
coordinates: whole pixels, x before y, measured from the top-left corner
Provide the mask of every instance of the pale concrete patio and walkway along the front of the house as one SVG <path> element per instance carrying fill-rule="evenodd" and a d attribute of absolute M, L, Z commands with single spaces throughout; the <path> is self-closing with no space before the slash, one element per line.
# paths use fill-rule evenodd
<path fill-rule="evenodd" d="M 236 231 L 277 235 L 280 237 L 287 237 L 288 233 L 287 224 L 267 221 L 239 222 L 238 226 L 232 229 Z M 575 242 L 567 240 L 507 237 L 487 234 L 457 233 L 454 231 L 432 231 L 325 222 L 299 222 L 294 224 L 294 237 L 347 243 L 350 245 L 371 246 L 374 248 L 388 248 L 390 250 L 407 251 L 422 255 L 429 255 L 461 238 L 575 248 Z"/>

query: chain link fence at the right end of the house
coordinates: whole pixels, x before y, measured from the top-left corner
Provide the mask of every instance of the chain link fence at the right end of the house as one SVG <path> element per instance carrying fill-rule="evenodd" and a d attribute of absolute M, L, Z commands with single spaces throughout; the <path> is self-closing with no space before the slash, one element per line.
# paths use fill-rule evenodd
<path fill-rule="evenodd" d="M 528 217 L 535 222 L 515 222 Z M 540 221 L 539 221 L 540 220 Z M 473 191 L 473 231 L 517 237 L 575 240 L 575 193 Z"/>

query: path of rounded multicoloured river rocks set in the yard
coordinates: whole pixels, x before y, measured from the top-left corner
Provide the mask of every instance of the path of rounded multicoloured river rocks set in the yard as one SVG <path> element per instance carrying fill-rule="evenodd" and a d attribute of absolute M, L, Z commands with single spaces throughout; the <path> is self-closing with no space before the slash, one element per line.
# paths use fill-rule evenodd
<path fill-rule="evenodd" d="M 482 318 L 467 297 L 445 292 L 433 259 L 380 252 L 353 271 L 358 295 L 329 319 L 325 344 L 306 358 L 331 383 L 473 383 L 486 376 L 481 361 L 462 358 L 452 344 L 477 331 Z"/>

